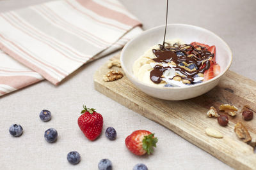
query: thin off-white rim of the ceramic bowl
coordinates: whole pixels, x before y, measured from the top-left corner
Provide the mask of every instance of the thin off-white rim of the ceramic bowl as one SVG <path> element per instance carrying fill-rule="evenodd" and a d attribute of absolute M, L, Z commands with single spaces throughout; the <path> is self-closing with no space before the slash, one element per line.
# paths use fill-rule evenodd
<path fill-rule="evenodd" d="M 220 36 L 218 36 L 217 34 L 215 34 L 214 32 L 212 31 L 209 31 L 208 29 L 205 29 L 203 27 L 198 27 L 198 26 L 195 26 L 195 25 L 189 25 L 189 24 L 167 24 L 167 26 L 169 25 L 173 25 L 173 26 L 177 26 L 177 25 L 181 25 L 181 26 L 186 26 L 186 27 L 195 27 L 195 28 L 199 28 L 199 29 L 202 29 L 206 32 L 209 32 L 211 34 L 214 34 L 214 36 L 220 38 Z M 141 32 L 141 34 L 138 34 L 137 36 L 135 36 L 134 38 L 132 38 L 125 46 L 124 48 L 122 49 L 122 52 L 120 54 L 120 64 L 122 66 L 122 69 L 124 70 L 125 74 L 127 74 L 127 77 L 131 78 L 132 81 L 136 81 L 137 83 L 140 83 L 141 85 L 145 85 L 147 87 L 152 87 L 152 88 L 155 88 L 155 89 L 188 89 L 188 88 L 193 88 L 193 87 L 200 87 L 200 86 L 203 86 L 203 85 L 206 85 L 206 84 L 209 84 L 211 83 L 212 81 L 220 78 L 221 76 L 223 76 L 225 73 L 227 73 L 228 69 L 230 68 L 231 64 L 232 64 L 232 61 L 233 61 L 233 54 L 232 54 L 232 51 L 230 50 L 230 47 L 228 46 L 228 44 L 222 39 L 221 41 L 223 41 L 223 43 L 225 45 L 227 45 L 227 48 L 228 48 L 228 51 L 230 52 L 230 62 L 228 63 L 228 66 L 226 67 L 225 71 L 223 71 L 221 74 L 219 74 L 218 76 L 215 76 L 214 78 L 212 78 L 211 80 L 207 80 L 207 81 L 203 81 L 202 83 L 198 83 L 196 85 L 189 85 L 188 87 L 157 87 L 157 86 L 154 86 L 154 85 L 148 85 L 147 83 L 144 83 L 143 81 L 140 81 L 138 80 L 137 78 L 134 77 L 134 74 L 130 74 L 129 71 L 127 71 L 127 69 L 125 68 L 125 65 L 124 65 L 124 62 L 123 62 L 123 59 L 124 59 L 124 53 L 125 53 L 125 50 L 128 48 L 128 46 L 133 42 L 135 41 L 136 39 L 140 38 L 142 35 L 144 34 L 147 34 L 148 32 L 154 30 L 154 29 L 158 29 L 159 27 L 165 27 L 165 25 L 159 25 L 157 27 L 153 27 L 151 29 L 147 29 L 143 32 Z"/>

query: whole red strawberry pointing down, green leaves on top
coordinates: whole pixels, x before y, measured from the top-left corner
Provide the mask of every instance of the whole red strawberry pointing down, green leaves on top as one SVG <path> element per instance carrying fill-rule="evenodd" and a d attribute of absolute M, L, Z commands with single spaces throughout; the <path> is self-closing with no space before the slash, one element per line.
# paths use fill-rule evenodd
<path fill-rule="evenodd" d="M 94 141 L 101 133 L 103 127 L 103 117 L 100 113 L 97 113 L 95 109 L 86 108 L 83 105 L 84 110 L 81 111 L 81 115 L 77 124 L 86 138 Z"/>

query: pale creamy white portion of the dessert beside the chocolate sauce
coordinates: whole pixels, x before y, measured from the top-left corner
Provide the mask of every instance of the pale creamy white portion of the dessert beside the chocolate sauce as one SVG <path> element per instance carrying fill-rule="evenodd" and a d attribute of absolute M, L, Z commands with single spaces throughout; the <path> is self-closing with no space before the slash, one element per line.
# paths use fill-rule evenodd
<path fill-rule="evenodd" d="M 175 43 L 184 44 L 182 39 L 172 39 L 165 41 L 166 43 L 173 45 Z M 147 83 L 148 85 L 153 85 L 157 87 L 187 87 L 191 82 L 189 82 L 186 79 L 183 79 L 182 77 L 185 77 L 184 74 L 180 73 L 180 71 L 177 71 L 177 69 L 174 69 L 173 67 L 176 67 L 177 64 L 175 62 L 155 62 L 152 59 L 156 59 L 156 55 L 153 53 L 153 49 L 160 50 L 159 45 L 154 45 L 150 47 L 141 57 L 139 57 L 132 66 L 132 71 L 134 76 L 138 78 L 138 80 L 143 81 L 144 83 Z M 186 63 L 184 63 L 186 64 Z M 161 76 L 161 83 L 154 83 L 150 79 L 150 71 L 154 69 L 155 66 L 163 66 L 168 67 L 163 72 L 163 75 Z M 186 64 L 187 66 L 188 64 Z M 186 67 L 184 66 L 184 67 Z M 187 68 L 186 68 L 187 69 Z M 193 69 L 191 69 L 193 71 Z M 197 77 L 193 78 L 193 83 L 196 83 L 198 81 L 204 80 L 204 74 L 198 74 Z"/>

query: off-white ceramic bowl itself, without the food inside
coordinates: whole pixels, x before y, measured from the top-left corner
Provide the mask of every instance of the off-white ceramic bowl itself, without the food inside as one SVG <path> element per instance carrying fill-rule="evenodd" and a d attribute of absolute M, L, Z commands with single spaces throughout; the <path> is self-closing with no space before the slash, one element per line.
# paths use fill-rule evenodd
<path fill-rule="evenodd" d="M 134 76 L 132 73 L 132 65 L 138 57 L 143 55 L 143 53 L 150 48 L 150 46 L 163 43 L 163 36 L 164 25 L 144 31 L 124 46 L 120 57 L 122 69 L 127 78 L 129 78 L 138 89 L 150 96 L 170 101 L 179 101 L 200 96 L 218 84 L 221 77 L 228 71 L 232 63 L 232 52 L 227 43 L 213 32 L 193 25 L 168 24 L 166 39 L 179 38 L 185 43 L 196 41 L 207 45 L 215 45 L 216 62 L 220 64 L 221 73 L 209 81 L 188 87 L 153 87 L 147 85 Z"/>

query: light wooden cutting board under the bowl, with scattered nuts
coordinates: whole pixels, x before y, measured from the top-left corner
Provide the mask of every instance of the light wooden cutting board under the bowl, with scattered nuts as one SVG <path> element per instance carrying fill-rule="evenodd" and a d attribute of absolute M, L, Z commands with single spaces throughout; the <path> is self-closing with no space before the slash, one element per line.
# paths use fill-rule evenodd
<path fill-rule="evenodd" d="M 119 55 L 116 56 L 118 57 Z M 103 81 L 103 75 L 111 70 L 107 65 L 108 63 L 100 67 L 94 75 L 96 90 L 167 127 L 231 167 L 256 169 L 256 153 L 253 152 L 252 146 L 243 143 L 234 132 L 234 125 L 242 122 L 250 131 L 252 141 L 256 141 L 256 118 L 246 122 L 240 113 L 244 105 L 256 111 L 255 81 L 228 71 L 219 85 L 207 94 L 185 101 L 164 101 L 141 92 L 126 76 L 116 81 Z M 122 71 L 119 67 L 112 69 Z M 237 116 L 229 118 L 227 127 L 221 127 L 216 118 L 206 115 L 211 106 L 218 108 L 220 104 L 232 104 L 239 108 Z M 207 127 L 218 129 L 224 137 L 217 139 L 207 136 Z"/>

